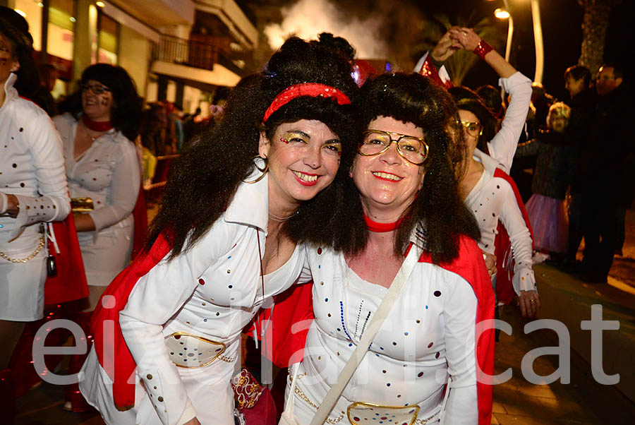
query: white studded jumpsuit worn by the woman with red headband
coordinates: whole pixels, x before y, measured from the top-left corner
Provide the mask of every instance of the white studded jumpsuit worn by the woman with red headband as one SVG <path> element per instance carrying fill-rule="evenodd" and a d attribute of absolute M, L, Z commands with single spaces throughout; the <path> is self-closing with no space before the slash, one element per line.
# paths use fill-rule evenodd
<path fill-rule="evenodd" d="M 241 184 L 229 208 L 197 244 L 171 261 L 164 258 L 136 283 L 119 318 L 137 364 L 137 380 L 144 384 L 138 383 L 133 418 L 128 421 L 116 411 L 94 349 L 84 366 L 87 378 L 80 383 L 108 424 L 175 425 L 193 417 L 202 424 L 233 421 L 229 378 L 241 351 L 241 331 L 266 299 L 294 283 L 303 265 L 302 249 L 296 247 L 282 268 L 265 275 L 262 293 L 267 181 L 265 176 L 255 184 Z M 224 343 L 222 358 L 195 369 L 175 366 L 164 340 L 177 332 Z"/>

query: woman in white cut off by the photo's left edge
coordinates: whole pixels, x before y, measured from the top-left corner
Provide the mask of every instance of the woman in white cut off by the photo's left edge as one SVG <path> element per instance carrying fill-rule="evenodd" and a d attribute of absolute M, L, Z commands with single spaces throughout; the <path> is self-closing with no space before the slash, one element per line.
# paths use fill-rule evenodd
<path fill-rule="evenodd" d="M 59 134 L 47 113 L 16 90 L 39 85 L 28 78 L 35 72 L 28 25 L 12 9 L 0 12 L 0 407 L 12 423 L 14 388 L 5 368 L 24 322 L 44 316 L 40 223 L 63 220 L 71 205 Z"/>

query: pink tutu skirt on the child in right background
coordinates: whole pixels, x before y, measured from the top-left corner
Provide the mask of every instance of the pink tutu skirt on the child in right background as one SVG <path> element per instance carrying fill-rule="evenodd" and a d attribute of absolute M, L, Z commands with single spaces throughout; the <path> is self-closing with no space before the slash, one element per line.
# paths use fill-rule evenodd
<path fill-rule="evenodd" d="M 569 217 L 564 200 L 533 194 L 525 208 L 533 230 L 533 248 L 567 252 Z"/>

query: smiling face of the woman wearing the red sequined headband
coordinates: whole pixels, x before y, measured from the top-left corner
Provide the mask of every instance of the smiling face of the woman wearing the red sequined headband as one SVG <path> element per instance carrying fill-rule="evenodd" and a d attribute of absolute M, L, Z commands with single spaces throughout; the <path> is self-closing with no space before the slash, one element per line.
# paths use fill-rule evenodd
<path fill-rule="evenodd" d="M 301 119 L 280 124 L 272 140 L 261 134 L 258 151 L 269 161 L 270 208 L 296 208 L 332 183 L 341 142 L 322 121 Z"/>

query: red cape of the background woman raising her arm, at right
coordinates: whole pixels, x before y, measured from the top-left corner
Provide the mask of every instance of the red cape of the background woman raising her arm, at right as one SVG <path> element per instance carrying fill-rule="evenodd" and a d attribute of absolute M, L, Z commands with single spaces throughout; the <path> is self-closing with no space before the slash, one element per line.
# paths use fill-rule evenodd
<path fill-rule="evenodd" d="M 533 241 L 533 231 L 531 230 L 531 224 L 529 224 L 529 216 L 525 210 L 525 204 L 516 187 L 516 183 L 514 183 L 514 179 L 500 168 L 495 170 L 494 176 L 504 179 L 509 183 L 509 186 L 512 186 L 512 190 L 516 196 L 516 203 L 518 203 L 518 208 L 521 210 L 525 224 L 529 229 L 529 234 L 531 234 L 531 240 Z M 514 285 L 512 285 L 514 261 L 509 261 L 509 256 L 512 255 L 512 243 L 509 241 L 507 229 L 505 229 L 501 222 L 498 223 L 497 232 L 494 240 L 494 255 L 496 256 L 496 299 L 504 304 L 509 304 L 512 302 L 512 299 L 514 299 L 514 295 L 516 295 Z M 508 263 L 509 267 L 507 267 Z"/>

